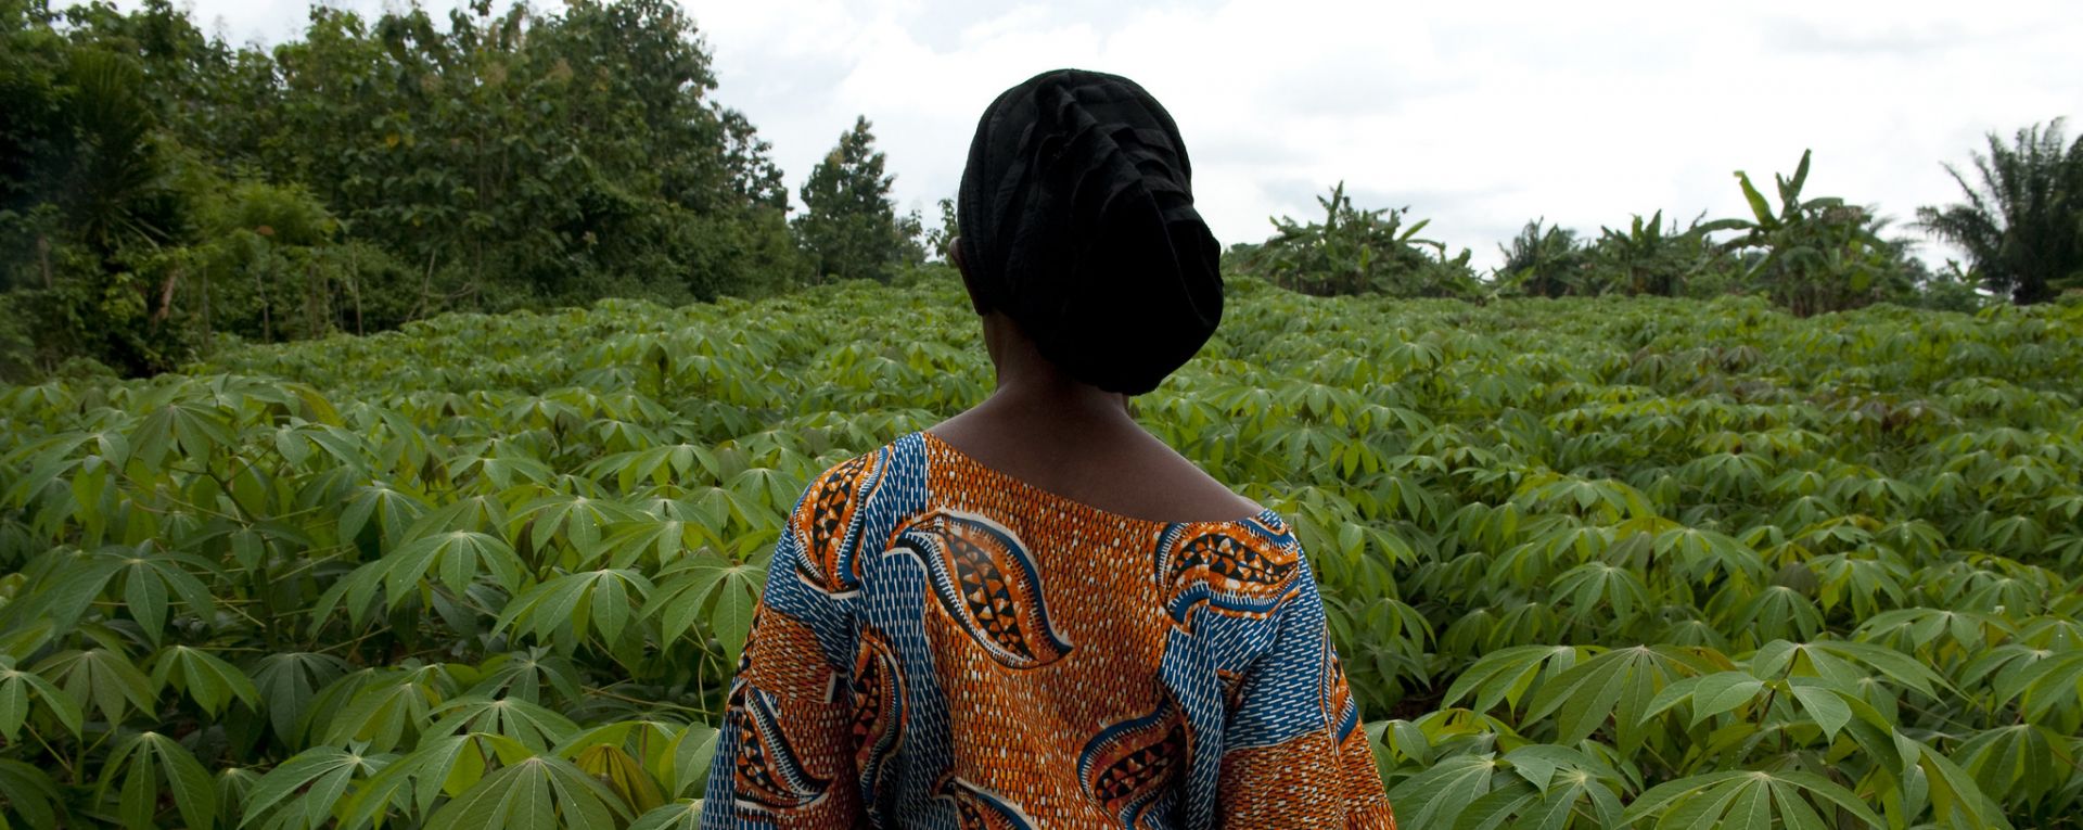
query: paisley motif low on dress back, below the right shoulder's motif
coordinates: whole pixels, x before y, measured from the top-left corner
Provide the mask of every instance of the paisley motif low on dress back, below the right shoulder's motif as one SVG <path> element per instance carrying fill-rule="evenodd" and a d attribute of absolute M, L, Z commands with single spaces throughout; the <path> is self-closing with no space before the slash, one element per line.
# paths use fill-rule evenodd
<path fill-rule="evenodd" d="M 1156 711 L 1100 730 L 1077 757 L 1077 780 L 1123 828 L 1135 828 L 1171 790 L 1191 744 L 1185 717 L 1164 697 Z"/>

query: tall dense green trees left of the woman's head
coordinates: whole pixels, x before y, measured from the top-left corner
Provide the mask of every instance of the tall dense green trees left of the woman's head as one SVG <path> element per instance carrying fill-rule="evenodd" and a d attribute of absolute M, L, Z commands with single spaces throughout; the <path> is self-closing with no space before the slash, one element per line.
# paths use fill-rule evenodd
<path fill-rule="evenodd" d="M 921 257 L 864 119 L 792 227 L 769 144 L 714 90 L 671 0 L 312 6 L 273 48 L 165 0 L 0 0 L 0 377 Z"/>

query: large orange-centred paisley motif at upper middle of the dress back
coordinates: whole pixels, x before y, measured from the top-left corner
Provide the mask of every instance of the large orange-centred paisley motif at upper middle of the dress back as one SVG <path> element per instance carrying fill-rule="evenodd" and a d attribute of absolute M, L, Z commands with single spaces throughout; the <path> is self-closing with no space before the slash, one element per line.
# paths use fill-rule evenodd
<path fill-rule="evenodd" d="M 925 563 L 942 609 L 1000 665 L 1035 669 L 1071 653 L 1048 617 L 1042 573 L 998 521 L 933 511 L 900 530 L 892 551 L 910 551 Z"/>

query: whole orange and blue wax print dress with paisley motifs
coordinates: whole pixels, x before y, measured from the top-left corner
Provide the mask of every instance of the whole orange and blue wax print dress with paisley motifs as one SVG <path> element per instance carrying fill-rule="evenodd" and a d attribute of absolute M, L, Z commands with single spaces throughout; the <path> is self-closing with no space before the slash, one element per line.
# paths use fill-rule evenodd
<path fill-rule="evenodd" d="M 702 828 L 1396 828 L 1275 511 L 1146 521 L 927 432 L 821 473 Z"/>

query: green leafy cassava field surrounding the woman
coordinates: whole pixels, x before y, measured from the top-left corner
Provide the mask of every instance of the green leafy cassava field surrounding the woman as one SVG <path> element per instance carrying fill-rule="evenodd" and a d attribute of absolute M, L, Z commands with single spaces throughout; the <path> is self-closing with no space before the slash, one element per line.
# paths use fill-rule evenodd
<path fill-rule="evenodd" d="M 1406 828 L 2077 828 L 2083 307 L 1319 300 L 1137 400 L 1294 519 Z M 0 826 L 692 828 L 946 275 L 0 388 Z"/>

